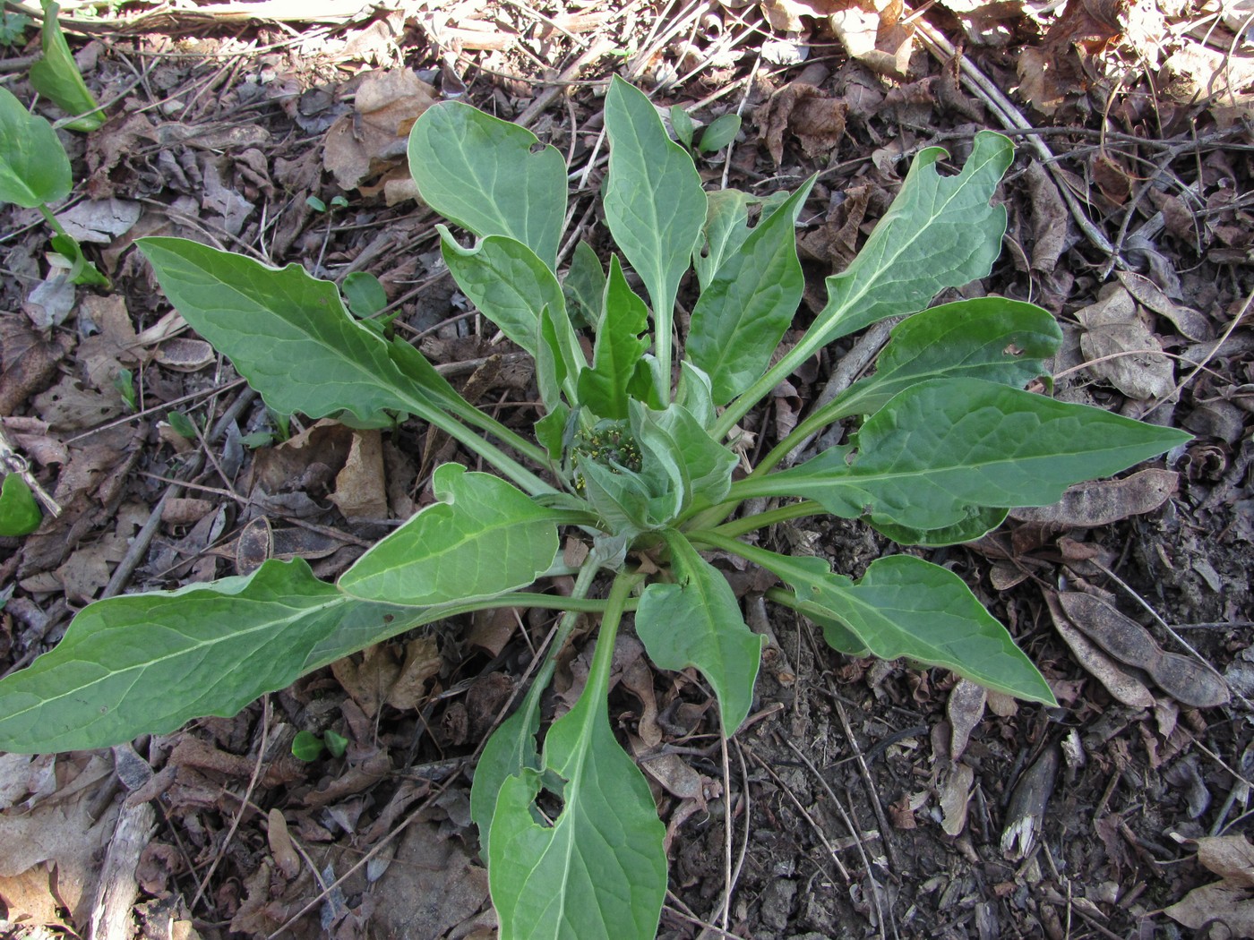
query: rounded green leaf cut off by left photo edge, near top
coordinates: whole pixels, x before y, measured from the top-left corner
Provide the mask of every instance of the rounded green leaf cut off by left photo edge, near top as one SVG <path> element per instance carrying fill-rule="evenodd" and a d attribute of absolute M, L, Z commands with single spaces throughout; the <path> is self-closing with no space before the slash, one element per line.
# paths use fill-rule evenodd
<path fill-rule="evenodd" d="M 0 88 L 0 202 L 38 209 L 71 187 L 70 160 L 53 125 Z"/>

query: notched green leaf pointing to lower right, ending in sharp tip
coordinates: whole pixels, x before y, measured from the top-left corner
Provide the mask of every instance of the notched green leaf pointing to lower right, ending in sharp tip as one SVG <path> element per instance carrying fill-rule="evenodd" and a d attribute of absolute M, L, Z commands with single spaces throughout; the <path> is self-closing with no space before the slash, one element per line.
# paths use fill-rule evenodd
<path fill-rule="evenodd" d="M 861 580 L 833 574 L 820 558 L 790 558 L 714 538 L 730 551 L 779 575 L 795 594 L 772 590 L 824 628 L 845 652 L 864 645 L 882 659 L 909 657 L 972 682 L 1033 702 L 1056 704 L 1053 693 L 1009 633 L 953 572 L 913 555 L 873 561 Z M 856 643 L 850 643 L 856 638 Z"/>

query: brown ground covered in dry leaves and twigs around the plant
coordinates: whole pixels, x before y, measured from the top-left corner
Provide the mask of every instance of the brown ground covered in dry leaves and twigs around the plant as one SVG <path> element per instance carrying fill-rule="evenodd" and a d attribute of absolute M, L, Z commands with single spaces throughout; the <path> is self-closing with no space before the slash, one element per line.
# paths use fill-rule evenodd
<path fill-rule="evenodd" d="M 247 570 L 260 531 L 262 556 L 334 578 L 430 499 L 434 464 L 470 460 L 411 421 L 375 435 L 371 473 L 349 429 L 282 427 L 171 322 L 137 237 L 336 281 L 371 272 L 398 328 L 525 429 L 530 366 L 468 310 L 413 198 L 404 133 L 431 100 L 460 97 L 553 143 L 572 173 L 568 232 L 598 248 L 611 75 L 698 122 L 740 113 L 730 155 L 701 158 L 710 188 L 764 196 L 820 174 L 801 213 L 798 328 L 910 158 L 940 144 L 942 165 L 961 167 L 993 128 L 1017 144 L 998 197 L 1009 227 L 992 276 L 963 296 L 1058 317 L 1060 397 L 1195 437 L 928 553 L 1008 625 L 1058 708 L 838 654 L 746 577 L 747 619 L 770 644 L 754 713 L 725 743 L 700 679 L 653 669 L 628 638 L 611 718 L 668 825 L 660 936 L 1254 936 L 1249 4 L 347 8 L 66 5 L 108 120 L 61 132 L 78 185 L 59 216 L 114 290 L 59 285 L 38 213 L 0 209 L 3 430 L 63 510 L 0 539 L 0 668 L 49 649 L 93 599 Z M 38 49 L 35 30 L 0 48 L 24 102 Z M 757 446 L 882 341 L 873 330 L 806 363 L 747 419 Z M 893 550 L 840 520 L 770 539 L 853 575 Z M 236 718 L 112 753 L 0 755 L 0 935 L 494 936 L 473 758 L 551 625 L 547 612 L 441 623 Z M 1112 633 L 1151 653 L 1106 655 L 1093 640 Z M 577 634 L 551 712 L 587 645 Z M 1224 677 L 1226 703 L 1203 701 L 1199 663 Z M 327 729 L 345 757 L 292 756 L 298 731 Z M 120 892 L 113 909 L 102 881 Z"/>

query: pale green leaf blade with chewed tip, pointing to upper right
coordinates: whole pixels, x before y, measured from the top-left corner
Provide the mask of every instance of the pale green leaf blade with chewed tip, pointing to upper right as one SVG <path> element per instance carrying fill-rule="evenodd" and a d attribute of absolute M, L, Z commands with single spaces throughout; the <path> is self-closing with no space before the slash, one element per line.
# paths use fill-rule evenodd
<path fill-rule="evenodd" d="M 894 313 L 922 310 L 946 287 L 992 269 L 1002 251 L 1006 207 L 989 206 L 1014 155 L 991 130 L 976 134 L 962 173 L 942 177 L 946 152 L 929 147 L 910 164 L 902 191 L 853 263 L 828 278 L 828 303 L 815 317 L 825 345 Z"/>

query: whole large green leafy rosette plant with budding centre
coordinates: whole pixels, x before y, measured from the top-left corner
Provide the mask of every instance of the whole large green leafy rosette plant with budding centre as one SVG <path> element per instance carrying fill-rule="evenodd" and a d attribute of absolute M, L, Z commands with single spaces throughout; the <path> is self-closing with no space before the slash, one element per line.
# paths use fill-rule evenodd
<path fill-rule="evenodd" d="M 799 516 L 863 519 L 899 543 L 946 545 L 997 526 L 1008 506 L 1047 505 L 1186 440 L 1175 430 L 1023 391 L 1058 347 L 1053 317 L 984 297 L 923 310 L 986 276 L 1006 211 L 992 206 L 1011 143 L 976 135 L 957 175 L 939 148 L 900 193 L 804 337 L 771 365 L 803 274 L 794 228 L 813 179 L 782 198 L 702 191 L 691 157 L 648 99 L 614 80 L 606 99 L 604 216 L 622 259 L 581 244 L 563 277 L 567 168 L 553 147 L 455 102 L 415 124 L 409 162 L 423 198 L 474 236 L 440 227 L 458 286 L 535 358 L 544 417 L 524 437 L 461 399 L 400 338 L 355 320 L 335 286 L 178 238 L 139 248 L 166 295 L 228 355 L 271 409 L 357 422 L 411 415 L 495 469 L 436 467 L 438 501 L 361 555 L 335 584 L 302 560 L 83 610 L 53 652 L 0 682 L 0 747 L 95 748 L 229 716 L 265 692 L 371 643 L 495 607 L 567 612 L 520 706 L 474 775 L 472 815 L 503 937 L 651 937 L 666 892 L 665 832 L 648 785 L 614 738 L 606 694 L 627 612 L 653 663 L 695 667 L 731 734 L 749 713 L 762 637 L 702 551 L 735 555 L 784 587 L 770 600 L 851 655 L 908 657 L 988 688 L 1052 703 L 1045 679 L 953 573 L 897 554 L 860 580 L 820 558 L 744 540 Z M 749 226 L 750 207 L 761 203 Z M 626 266 L 643 282 L 637 295 Z M 688 269 L 700 296 L 686 336 L 673 317 Z M 573 310 L 591 320 L 591 361 Z M 922 311 L 922 312 L 917 312 Z M 737 422 L 818 350 L 884 317 L 875 372 L 816 409 L 747 475 L 729 449 Z M 849 442 L 777 470 L 824 426 Z M 746 499 L 776 508 L 737 518 Z M 591 541 L 577 573 L 559 531 Z M 647 553 L 651 564 L 640 564 Z M 657 570 L 657 569 L 661 570 Z M 598 572 L 608 597 L 591 599 Z M 646 573 L 647 572 L 647 573 Z M 576 573 L 572 597 L 528 592 Z M 599 614 L 578 702 L 548 728 L 540 698 L 577 614 Z M 561 806 L 537 808 L 540 791 Z"/>

